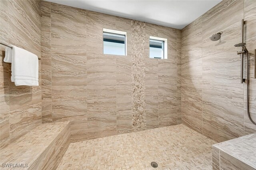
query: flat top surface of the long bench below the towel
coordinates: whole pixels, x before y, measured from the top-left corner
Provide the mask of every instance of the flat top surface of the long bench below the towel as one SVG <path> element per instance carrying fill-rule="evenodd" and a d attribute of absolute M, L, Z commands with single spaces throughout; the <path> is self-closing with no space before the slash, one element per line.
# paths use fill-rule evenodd
<path fill-rule="evenodd" d="M 17 141 L 2 149 L 0 156 L 1 162 L 27 163 L 28 167 L 25 169 L 33 168 L 38 163 L 45 163 L 44 160 L 41 162 L 38 159 L 51 145 L 55 147 L 54 142 L 56 142 L 56 138 L 66 128 L 70 128 L 70 121 L 43 123 L 39 125 L 26 135 L 20 137 Z"/>

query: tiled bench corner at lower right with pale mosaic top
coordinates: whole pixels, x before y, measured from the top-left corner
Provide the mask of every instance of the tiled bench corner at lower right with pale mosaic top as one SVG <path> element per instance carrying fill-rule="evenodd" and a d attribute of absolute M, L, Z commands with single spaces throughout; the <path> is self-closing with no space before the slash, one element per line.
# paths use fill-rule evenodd
<path fill-rule="evenodd" d="M 256 133 L 212 145 L 213 170 L 256 170 Z"/>

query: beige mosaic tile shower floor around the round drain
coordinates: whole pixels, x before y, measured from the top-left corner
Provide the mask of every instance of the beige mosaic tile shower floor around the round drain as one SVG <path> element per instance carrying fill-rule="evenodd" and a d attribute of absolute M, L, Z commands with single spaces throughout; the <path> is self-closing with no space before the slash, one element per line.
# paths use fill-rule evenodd
<path fill-rule="evenodd" d="M 182 124 L 115 135 L 71 143 L 58 170 L 210 170 L 215 143 Z"/>

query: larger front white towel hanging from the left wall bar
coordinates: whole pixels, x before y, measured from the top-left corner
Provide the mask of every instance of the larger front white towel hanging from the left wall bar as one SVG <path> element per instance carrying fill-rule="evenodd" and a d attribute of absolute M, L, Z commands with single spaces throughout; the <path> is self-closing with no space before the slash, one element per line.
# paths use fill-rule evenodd
<path fill-rule="evenodd" d="M 12 82 L 16 86 L 38 86 L 38 57 L 12 46 Z"/>

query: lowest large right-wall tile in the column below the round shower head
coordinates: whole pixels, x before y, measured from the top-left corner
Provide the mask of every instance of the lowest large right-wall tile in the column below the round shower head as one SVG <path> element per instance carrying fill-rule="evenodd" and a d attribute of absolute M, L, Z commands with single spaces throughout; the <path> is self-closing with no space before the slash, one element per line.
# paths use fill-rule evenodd
<path fill-rule="evenodd" d="M 234 137 L 242 136 L 244 134 L 243 109 L 243 102 L 204 98 L 204 135 L 212 136 L 218 139 L 218 141 L 226 141 Z M 213 132 L 215 129 L 218 131 L 218 135 L 214 135 Z"/>

